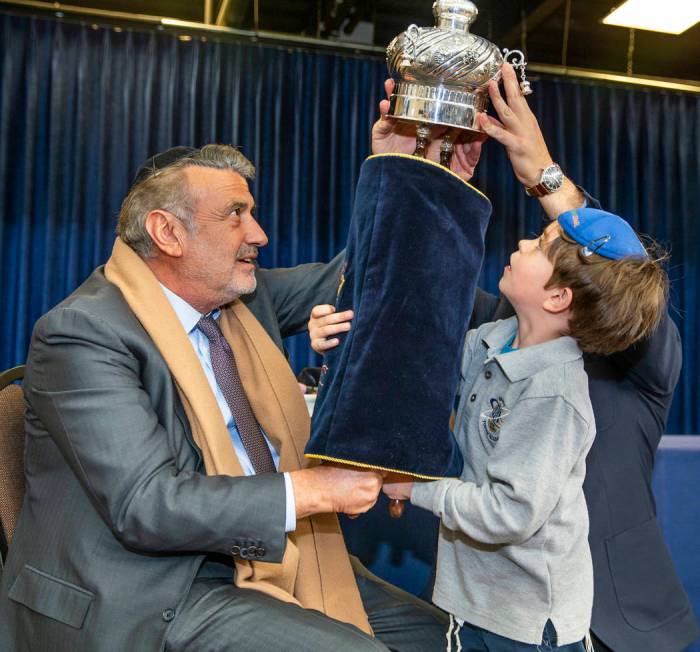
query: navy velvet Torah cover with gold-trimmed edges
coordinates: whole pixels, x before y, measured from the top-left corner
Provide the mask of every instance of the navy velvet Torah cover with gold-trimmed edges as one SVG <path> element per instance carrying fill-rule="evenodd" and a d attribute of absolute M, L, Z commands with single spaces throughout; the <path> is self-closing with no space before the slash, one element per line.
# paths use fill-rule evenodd
<path fill-rule="evenodd" d="M 326 354 L 308 457 L 460 475 L 449 418 L 490 215 L 486 196 L 436 163 L 363 163 L 336 301 L 355 318 Z"/>

